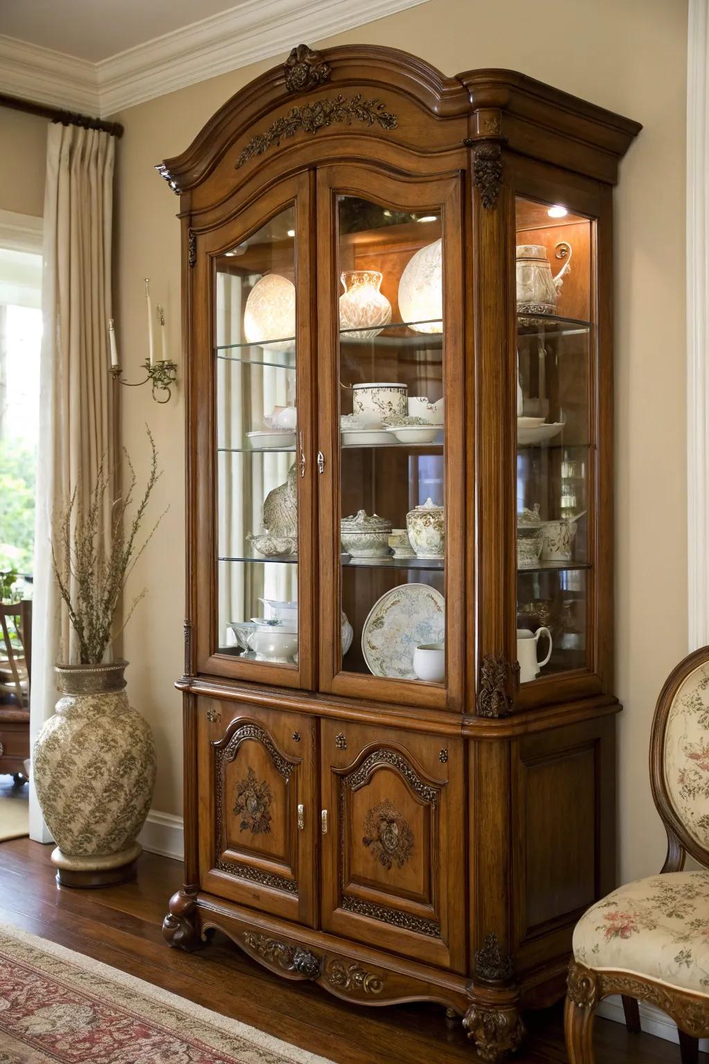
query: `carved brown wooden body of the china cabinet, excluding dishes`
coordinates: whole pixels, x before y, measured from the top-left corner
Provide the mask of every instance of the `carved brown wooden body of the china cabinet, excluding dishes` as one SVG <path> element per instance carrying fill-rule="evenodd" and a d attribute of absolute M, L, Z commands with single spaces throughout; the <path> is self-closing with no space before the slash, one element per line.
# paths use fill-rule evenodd
<path fill-rule="evenodd" d="M 611 185 L 639 129 L 511 71 L 445 78 L 393 49 L 301 49 L 165 164 L 181 194 L 188 418 L 187 871 L 166 934 L 191 948 L 219 928 L 269 971 L 358 1004 L 436 1000 L 466 1016 L 486 1061 L 518 1046 L 522 1010 L 562 994 L 573 922 L 614 877 Z M 339 233 L 341 196 L 402 216 Z M 572 217 L 545 228 L 557 202 Z M 277 239 L 272 264 L 296 280 L 304 456 L 287 665 L 219 650 L 213 350 L 215 261 L 263 271 L 251 246 L 241 265 L 224 253 L 286 209 L 294 270 Z M 340 650 L 341 609 L 358 639 L 383 591 L 411 579 L 344 571 L 340 518 L 367 502 L 402 521 L 412 456 L 341 453 L 341 384 L 429 382 L 384 344 L 356 363 L 338 275 L 385 269 L 396 314 L 428 213 L 443 236 L 431 386 L 445 399 L 444 684 L 373 677 L 358 647 Z M 518 228 L 552 247 L 574 226 L 561 309 L 592 322 L 577 382 L 591 454 L 586 643 L 573 668 L 520 686 L 514 247 Z"/>

